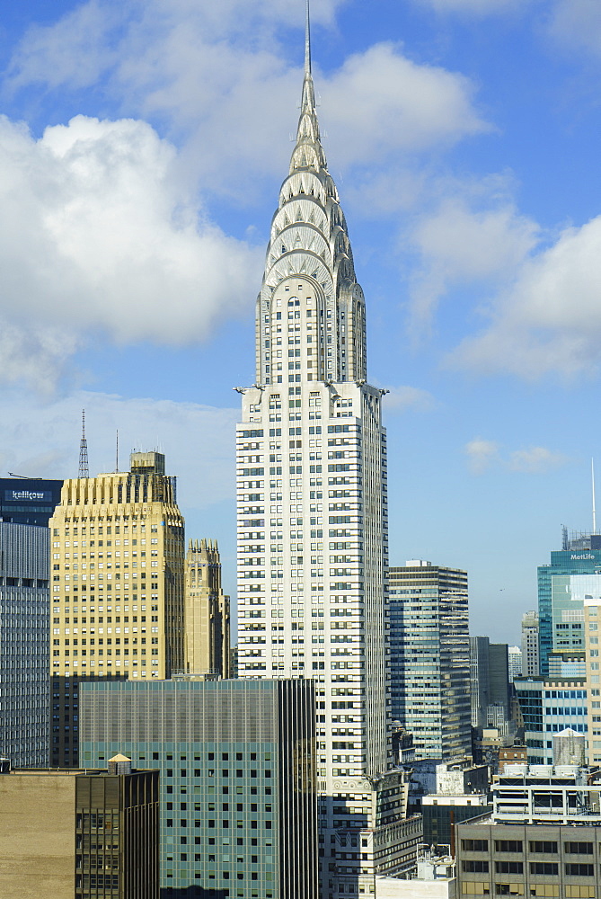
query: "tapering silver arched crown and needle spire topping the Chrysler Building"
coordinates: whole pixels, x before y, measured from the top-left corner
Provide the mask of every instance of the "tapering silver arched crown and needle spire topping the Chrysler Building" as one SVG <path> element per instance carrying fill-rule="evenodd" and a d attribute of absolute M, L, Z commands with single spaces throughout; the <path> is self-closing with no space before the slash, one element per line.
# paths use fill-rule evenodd
<path fill-rule="evenodd" d="M 284 378 L 290 377 L 296 383 L 305 369 L 307 380 L 358 383 L 367 378 L 365 301 L 355 276 L 338 191 L 328 173 L 315 108 L 309 0 L 305 0 L 305 12 L 305 75 L 296 143 L 271 224 L 257 303 L 259 385 L 283 384 Z M 304 352 L 298 352 L 298 362 L 296 355 L 292 362 L 294 368 L 286 369 L 298 369 L 298 375 L 285 376 L 277 325 L 271 331 L 266 323 L 271 322 L 276 306 L 287 307 L 290 299 L 300 302 L 297 291 L 302 280 L 307 301 L 312 298 L 315 304 L 314 309 L 307 310 L 307 316 L 311 312 L 320 323 L 316 328 L 324 328 L 327 321 L 327 334 L 311 334 L 316 345 L 305 347 L 306 359 Z"/>

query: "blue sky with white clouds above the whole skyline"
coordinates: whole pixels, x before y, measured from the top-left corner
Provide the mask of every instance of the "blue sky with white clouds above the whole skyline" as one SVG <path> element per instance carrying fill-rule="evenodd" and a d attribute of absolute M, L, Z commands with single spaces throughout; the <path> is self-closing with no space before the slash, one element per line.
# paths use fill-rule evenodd
<path fill-rule="evenodd" d="M 296 129 L 301 0 L 2 4 L 0 469 L 164 449 L 234 594 L 232 388 Z M 323 143 L 391 390 L 391 563 L 519 638 L 599 445 L 601 7 L 314 0 Z M 123 466 L 122 466 L 123 467 Z M 601 471 L 601 456 L 598 461 Z"/>

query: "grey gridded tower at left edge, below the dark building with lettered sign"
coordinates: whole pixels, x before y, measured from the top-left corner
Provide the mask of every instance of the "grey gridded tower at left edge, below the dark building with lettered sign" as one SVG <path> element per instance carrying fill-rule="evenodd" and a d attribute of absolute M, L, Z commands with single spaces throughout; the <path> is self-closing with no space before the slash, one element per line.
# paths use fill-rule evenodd
<path fill-rule="evenodd" d="M 0 755 L 48 764 L 49 530 L 0 521 Z"/>

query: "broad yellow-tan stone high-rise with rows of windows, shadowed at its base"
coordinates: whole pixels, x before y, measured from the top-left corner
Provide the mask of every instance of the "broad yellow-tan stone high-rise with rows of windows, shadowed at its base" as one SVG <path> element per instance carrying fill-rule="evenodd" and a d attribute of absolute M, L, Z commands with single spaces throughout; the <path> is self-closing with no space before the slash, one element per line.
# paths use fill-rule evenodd
<path fill-rule="evenodd" d="M 184 521 L 164 455 L 66 480 L 50 528 L 53 766 L 77 764 L 78 684 L 184 665 Z"/>

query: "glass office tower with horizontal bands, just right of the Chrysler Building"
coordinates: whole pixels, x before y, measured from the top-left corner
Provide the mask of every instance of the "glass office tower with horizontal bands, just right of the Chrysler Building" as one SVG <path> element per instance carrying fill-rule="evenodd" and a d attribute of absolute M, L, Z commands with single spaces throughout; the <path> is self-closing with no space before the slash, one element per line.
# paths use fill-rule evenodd
<path fill-rule="evenodd" d="M 393 717 L 416 758 L 470 754 L 467 574 L 411 561 L 389 570 Z"/>

